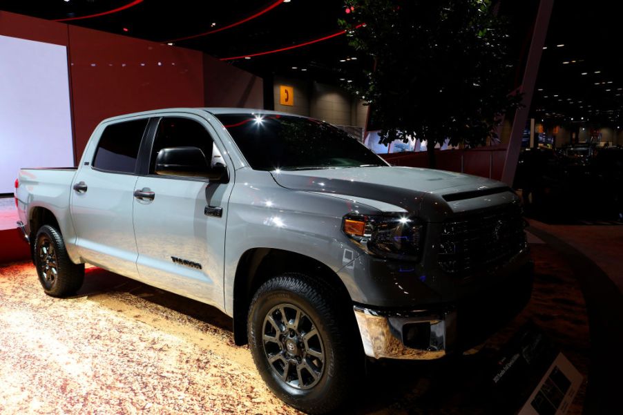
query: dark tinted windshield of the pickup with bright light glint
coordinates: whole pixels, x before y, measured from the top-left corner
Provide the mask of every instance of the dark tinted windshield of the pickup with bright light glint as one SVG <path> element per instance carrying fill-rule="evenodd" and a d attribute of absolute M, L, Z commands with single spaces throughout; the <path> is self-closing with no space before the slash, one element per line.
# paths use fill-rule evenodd
<path fill-rule="evenodd" d="M 325 122 L 291 115 L 215 115 L 255 170 L 387 166 L 368 148 Z"/>

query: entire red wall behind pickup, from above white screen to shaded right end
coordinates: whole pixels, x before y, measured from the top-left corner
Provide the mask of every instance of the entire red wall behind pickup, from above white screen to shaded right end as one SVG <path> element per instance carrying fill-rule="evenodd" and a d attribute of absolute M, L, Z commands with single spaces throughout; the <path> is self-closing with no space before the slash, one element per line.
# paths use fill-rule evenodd
<path fill-rule="evenodd" d="M 0 35 L 67 47 L 76 160 L 106 117 L 180 106 L 264 106 L 261 78 L 196 50 L 1 11 Z"/>

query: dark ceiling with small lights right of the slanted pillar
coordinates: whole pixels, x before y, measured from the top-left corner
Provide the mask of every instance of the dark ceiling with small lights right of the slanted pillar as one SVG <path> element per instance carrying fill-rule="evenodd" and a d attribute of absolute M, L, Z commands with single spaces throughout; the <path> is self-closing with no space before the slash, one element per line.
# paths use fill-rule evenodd
<path fill-rule="evenodd" d="M 554 2 L 530 108 L 535 117 L 623 126 L 623 32 L 615 3 Z"/>

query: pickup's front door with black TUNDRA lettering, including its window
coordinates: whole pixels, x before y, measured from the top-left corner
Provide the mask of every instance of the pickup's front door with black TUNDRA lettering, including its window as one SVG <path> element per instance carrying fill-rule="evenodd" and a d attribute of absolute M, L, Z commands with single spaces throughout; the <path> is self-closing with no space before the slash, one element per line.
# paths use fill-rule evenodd
<path fill-rule="evenodd" d="M 162 289 L 223 307 L 223 273 L 229 180 L 155 175 L 162 148 L 201 148 L 208 162 L 225 164 L 210 124 L 197 115 L 162 117 L 157 124 L 146 175 L 135 190 L 153 199 L 134 200 L 134 230 L 140 279 Z"/>

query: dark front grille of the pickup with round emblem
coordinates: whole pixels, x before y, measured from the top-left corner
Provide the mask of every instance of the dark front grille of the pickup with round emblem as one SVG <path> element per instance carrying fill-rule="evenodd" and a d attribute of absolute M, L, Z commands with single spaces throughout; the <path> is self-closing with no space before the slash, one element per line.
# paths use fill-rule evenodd
<path fill-rule="evenodd" d="M 443 271 L 466 276 L 495 269 L 525 248 L 521 206 L 510 204 L 444 222 L 439 265 Z"/>

